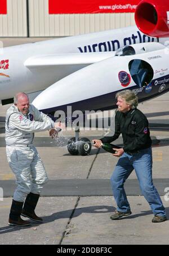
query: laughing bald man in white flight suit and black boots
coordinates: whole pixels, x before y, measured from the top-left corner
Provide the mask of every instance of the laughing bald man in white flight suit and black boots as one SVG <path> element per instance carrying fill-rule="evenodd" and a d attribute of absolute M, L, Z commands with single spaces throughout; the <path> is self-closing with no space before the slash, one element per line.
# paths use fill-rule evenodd
<path fill-rule="evenodd" d="M 28 226 L 30 222 L 20 215 L 42 222 L 35 212 L 42 185 L 48 180 L 43 162 L 33 145 L 34 132 L 50 130 L 50 136 L 59 128 L 50 117 L 29 104 L 28 95 L 19 92 L 14 104 L 6 113 L 6 154 L 8 163 L 16 176 L 8 224 Z M 26 197 L 26 199 L 25 199 Z M 25 201 L 25 202 L 24 202 Z M 24 205 L 24 207 L 23 207 Z"/>

